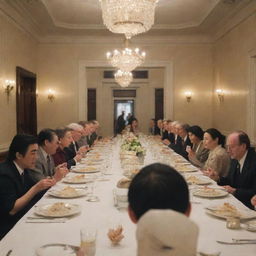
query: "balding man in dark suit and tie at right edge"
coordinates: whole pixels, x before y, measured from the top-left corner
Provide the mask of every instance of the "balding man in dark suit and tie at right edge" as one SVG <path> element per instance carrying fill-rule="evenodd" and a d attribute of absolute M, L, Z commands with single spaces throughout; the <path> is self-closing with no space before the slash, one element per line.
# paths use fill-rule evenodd
<path fill-rule="evenodd" d="M 219 177 L 214 170 L 210 177 L 247 207 L 252 208 L 250 202 L 256 193 L 256 153 L 250 147 L 250 139 L 243 131 L 231 133 L 227 138 L 227 152 L 232 158 L 228 175 Z"/>

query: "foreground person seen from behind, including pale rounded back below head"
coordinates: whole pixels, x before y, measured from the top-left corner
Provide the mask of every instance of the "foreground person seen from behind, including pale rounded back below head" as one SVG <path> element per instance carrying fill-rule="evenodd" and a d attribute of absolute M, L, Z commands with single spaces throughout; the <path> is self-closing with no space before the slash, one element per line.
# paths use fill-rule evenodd
<path fill-rule="evenodd" d="M 144 167 L 130 184 L 128 201 L 129 216 L 134 223 L 138 222 L 139 256 L 165 255 L 165 252 L 181 256 L 196 254 L 198 228 L 187 218 L 191 210 L 188 186 L 177 171 L 163 164 Z M 178 236 L 177 225 L 181 227 Z M 190 242 L 184 244 L 182 237 L 187 233 Z"/>

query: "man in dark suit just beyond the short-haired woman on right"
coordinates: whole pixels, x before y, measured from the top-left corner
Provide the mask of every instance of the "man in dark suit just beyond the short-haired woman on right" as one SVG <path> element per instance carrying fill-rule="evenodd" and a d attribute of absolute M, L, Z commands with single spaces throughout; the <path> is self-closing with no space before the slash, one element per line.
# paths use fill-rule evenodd
<path fill-rule="evenodd" d="M 177 154 L 188 159 L 187 146 L 192 147 L 192 143 L 188 136 L 188 124 L 176 124 L 178 137 L 175 143 L 170 144 L 169 147 L 173 149 Z"/>

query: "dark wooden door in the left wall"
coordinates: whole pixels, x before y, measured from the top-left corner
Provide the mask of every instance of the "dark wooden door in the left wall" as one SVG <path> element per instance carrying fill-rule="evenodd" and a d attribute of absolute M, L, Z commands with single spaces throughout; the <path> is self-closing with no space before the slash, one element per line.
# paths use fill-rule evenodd
<path fill-rule="evenodd" d="M 36 74 L 16 67 L 17 133 L 37 135 Z"/>

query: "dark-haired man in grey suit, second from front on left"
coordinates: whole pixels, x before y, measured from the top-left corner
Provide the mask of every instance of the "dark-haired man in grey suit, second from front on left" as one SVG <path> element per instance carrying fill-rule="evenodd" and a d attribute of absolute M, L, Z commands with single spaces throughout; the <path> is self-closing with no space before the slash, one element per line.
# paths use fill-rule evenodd
<path fill-rule="evenodd" d="M 66 164 L 55 168 L 52 155 L 56 153 L 59 139 L 54 130 L 44 129 L 38 134 L 38 157 L 33 170 L 28 170 L 31 178 L 37 182 L 46 177 L 54 177 L 56 181 L 61 180 L 68 172 Z"/>

